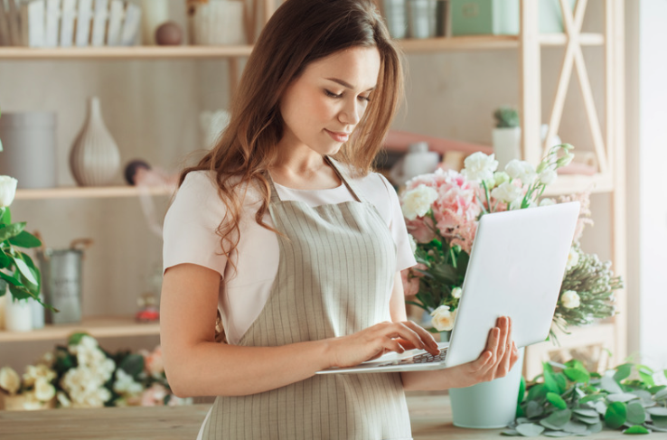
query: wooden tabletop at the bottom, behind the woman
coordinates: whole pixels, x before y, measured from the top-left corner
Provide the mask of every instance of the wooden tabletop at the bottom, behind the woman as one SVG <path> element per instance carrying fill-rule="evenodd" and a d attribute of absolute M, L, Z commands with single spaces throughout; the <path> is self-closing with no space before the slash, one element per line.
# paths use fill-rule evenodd
<path fill-rule="evenodd" d="M 443 394 L 408 396 L 414 440 L 503 440 L 501 429 L 475 430 L 452 425 L 449 398 Z M 194 440 L 210 405 L 0 411 L 1 440 Z M 587 438 L 625 437 L 603 431 Z M 650 435 L 647 438 L 659 438 Z M 548 438 L 548 437 L 541 437 Z M 627 438 L 627 437 L 625 437 Z M 261 440 L 261 439 L 260 439 Z"/>

